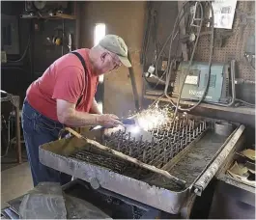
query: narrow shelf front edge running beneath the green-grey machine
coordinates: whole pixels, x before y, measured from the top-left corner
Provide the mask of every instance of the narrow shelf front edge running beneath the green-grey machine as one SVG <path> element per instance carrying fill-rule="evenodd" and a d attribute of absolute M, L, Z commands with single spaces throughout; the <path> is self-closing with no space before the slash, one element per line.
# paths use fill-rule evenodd
<path fill-rule="evenodd" d="M 167 97 L 159 97 L 156 95 L 155 96 L 145 95 L 144 97 L 148 99 L 153 99 L 153 100 L 156 100 L 157 98 L 159 98 L 159 100 L 170 102 L 169 98 Z M 177 99 L 178 99 L 177 97 L 172 97 L 172 100 L 175 103 L 177 102 Z M 193 106 L 196 104 L 196 102 L 181 101 L 181 104 Z M 215 110 L 220 110 L 225 112 L 234 112 L 234 113 L 240 113 L 240 114 L 252 115 L 252 116 L 255 115 L 255 109 L 249 108 L 249 107 L 224 107 L 224 106 L 217 106 L 217 105 L 207 104 L 207 103 L 201 103 L 199 106 L 203 108 L 215 109 Z"/>

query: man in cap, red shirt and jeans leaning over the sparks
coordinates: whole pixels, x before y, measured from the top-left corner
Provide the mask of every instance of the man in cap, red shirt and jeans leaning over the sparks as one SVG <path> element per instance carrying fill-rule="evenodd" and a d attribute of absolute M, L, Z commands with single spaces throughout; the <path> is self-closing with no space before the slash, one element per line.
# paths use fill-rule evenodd
<path fill-rule="evenodd" d="M 122 124 L 117 116 L 102 114 L 94 97 L 99 75 L 122 64 L 131 67 L 128 46 L 122 38 L 107 35 L 91 49 L 78 49 L 59 58 L 30 85 L 22 108 L 22 127 L 35 186 L 41 181 L 64 184 L 71 180 L 39 160 L 39 147 L 57 140 L 63 127 Z"/>

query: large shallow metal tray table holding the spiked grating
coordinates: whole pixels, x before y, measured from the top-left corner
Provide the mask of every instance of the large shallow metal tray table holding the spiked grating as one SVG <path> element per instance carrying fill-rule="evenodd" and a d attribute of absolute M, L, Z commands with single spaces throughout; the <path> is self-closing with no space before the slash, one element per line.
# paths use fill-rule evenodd
<path fill-rule="evenodd" d="M 108 151 L 86 145 L 76 137 L 44 144 L 39 150 L 40 161 L 90 182 L 94 188 L 107 189 L 147 206 L 177 214 L 194 193 L 191 189 L 200 190 L 201 185 L 193 187 L 195 181 L 208 172 L 230 137 L 216 134 L 213 122 L 194 117 L 165 122 L 147 132 L 153 138 L 145 141 L 139 135 L 140 138 L 134 139 L 126 129 L 116 130 L 104 136 L 102 144 L 185 180 L 185 187 Z"/>

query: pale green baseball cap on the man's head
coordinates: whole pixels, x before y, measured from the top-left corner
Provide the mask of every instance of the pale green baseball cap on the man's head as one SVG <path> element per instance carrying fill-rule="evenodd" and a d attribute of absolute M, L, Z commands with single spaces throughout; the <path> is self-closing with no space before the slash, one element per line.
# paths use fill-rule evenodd
<path fill-rule="evenodd" d="M 106 35 L 99 44 L 106 50 L 118 55 L 123 65 L 128 68 L 131 67 L 128 61 L 128 46 L 122 38 L 117 35 Z"/>

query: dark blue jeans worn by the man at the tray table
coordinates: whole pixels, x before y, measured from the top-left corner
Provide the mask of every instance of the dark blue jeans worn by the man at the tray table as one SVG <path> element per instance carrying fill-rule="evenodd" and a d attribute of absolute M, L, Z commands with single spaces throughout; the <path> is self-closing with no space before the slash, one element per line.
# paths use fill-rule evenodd
<path fill-rule="evenodd" d="M 60 182 L 61 184 L 71 181 L 71 176 L 46 167 L 39 160 L 39 147 L 58 140 L 63 124 L 40 114 L 26 99 L 23 103 L 21 122 L 34 186 L 42 181 Z"/>

